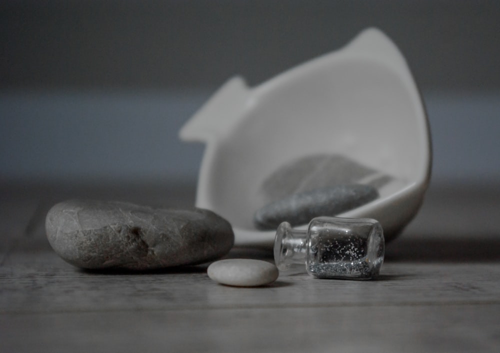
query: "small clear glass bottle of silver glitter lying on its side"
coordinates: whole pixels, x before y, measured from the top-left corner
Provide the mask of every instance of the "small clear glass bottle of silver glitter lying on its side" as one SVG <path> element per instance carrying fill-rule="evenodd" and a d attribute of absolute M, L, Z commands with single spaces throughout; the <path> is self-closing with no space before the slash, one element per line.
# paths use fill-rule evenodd
<path fill-rule="evenodd" d="M 317 217 L 307 230 L 282 222 L 274 240 L 278 269 L 305 264 L 307 272 L 319 278 L 374 279 L 383 256 L 382 227 L 369 218 Z"/>

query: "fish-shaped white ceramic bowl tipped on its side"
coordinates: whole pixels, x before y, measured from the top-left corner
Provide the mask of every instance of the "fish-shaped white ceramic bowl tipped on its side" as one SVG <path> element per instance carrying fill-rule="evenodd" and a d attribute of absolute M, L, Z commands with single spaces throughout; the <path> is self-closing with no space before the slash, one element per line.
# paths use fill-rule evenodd
<path fill-rule="evenodd" d="M 226 82 L 180 130 L 203 141 L 196 206 L 232 224 L 236 244 L 272 245 L 253 213 L 263 180 L 298 157 L 335 154 L 390 175 L 379 197 L 339 214 L 377 219 L 386 240 L 416 214 L 430 177 L 425 110 L 408 66 L 380 30 L 259 86 Z M 303 227 L 305 227 L 304 225 Z"/>

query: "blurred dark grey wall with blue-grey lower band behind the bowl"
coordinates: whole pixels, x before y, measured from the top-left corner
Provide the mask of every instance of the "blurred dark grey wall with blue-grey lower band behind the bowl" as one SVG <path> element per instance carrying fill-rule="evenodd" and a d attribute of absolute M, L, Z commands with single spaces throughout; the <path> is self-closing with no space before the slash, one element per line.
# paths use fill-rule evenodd
<path fill-rule="evenodd" d="M 194 180 L 177 131 L 234 74 L 250 85 L 377 26 L 405 55 L 434 180 L 500 177 L 499 1 L 0 2 L 0 178 Z"/>

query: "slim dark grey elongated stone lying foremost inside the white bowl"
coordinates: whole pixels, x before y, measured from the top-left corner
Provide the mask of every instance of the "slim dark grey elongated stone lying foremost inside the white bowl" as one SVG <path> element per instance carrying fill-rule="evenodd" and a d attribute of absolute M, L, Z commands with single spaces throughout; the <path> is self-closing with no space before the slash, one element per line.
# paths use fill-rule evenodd
<path fill-rule="evenodd" d="M 307 224 L 312 218 L 334 216 L 378 197 L 371 185 L 352 184 L 321 187 L 271 202 L 258 209 L 253 223 L 258 229 L 276 229 L 281 222 Z"/>

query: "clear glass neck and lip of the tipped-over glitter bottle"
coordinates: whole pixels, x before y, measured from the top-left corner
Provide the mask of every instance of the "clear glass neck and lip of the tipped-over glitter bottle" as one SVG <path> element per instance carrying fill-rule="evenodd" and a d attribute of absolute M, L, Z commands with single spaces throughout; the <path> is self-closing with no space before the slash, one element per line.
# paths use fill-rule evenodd
<path fill-rule="evenodd" d="M 290 223 L 282 222 L 274 239 L 274 262 L 280 270 L 292 264 L 304 265 L 307 257 L 307 230 L 292 229 Z"/>

